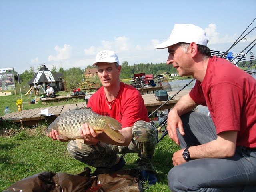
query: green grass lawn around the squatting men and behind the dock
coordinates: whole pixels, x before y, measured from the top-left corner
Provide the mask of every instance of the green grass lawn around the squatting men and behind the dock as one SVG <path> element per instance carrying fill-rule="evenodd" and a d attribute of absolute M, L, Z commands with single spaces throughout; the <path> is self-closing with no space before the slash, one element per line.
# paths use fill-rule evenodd
<path fill-rule="evenodd" d="M 58 93 L 57 93 L 58 94 Z M 67 93 L 62 93 L 66 95 Z M 4 115 L 5 106 L 13 111 L 17 110 L 16 100 L 20 95 L 2 96 L 0 99 L 0 116 Z M 34 96 L 22 95 L 23 109 L 38 108 L 45 106 L 41 102 L 29 104 Z M 84 102 L 84 100 L 71 99 L 65 102 L 49 103 L 47 106 Z M 66 172 L 78 174 L 86 164 L 70 157 L 67 152 L 66 142 L 52 141 L 44 135 L 47 124 L 37 127 L 19 127 L 11 122 L 0 123 L 0 191 L 4 190 L 14 182 L 36 174 L 38 172 Z M 7 129 L 6 129 L 7 128 Z M 161 132 L 159 133 L 159 138 Z M 167 174 L 172 168 L 172 154 L 179 150 L 168 136 L 164 137 L 156 146 L 153 157 L 153 165 L 157 171 L 158 183 L 148 186 L 146 192 L 166 192 L 168 188 Z M 126 165 L 124 169 L 136 168 L 137 154 L 126 154 L 124 156 Z M 92 171 L 95 168 L 90 167 Z"/>

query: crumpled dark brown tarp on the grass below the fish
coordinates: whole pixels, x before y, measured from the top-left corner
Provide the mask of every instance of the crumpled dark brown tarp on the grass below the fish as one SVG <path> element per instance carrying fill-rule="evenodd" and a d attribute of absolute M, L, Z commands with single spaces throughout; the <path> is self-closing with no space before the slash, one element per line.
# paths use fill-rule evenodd
<path fill-rule="evenodd" d="M 40 172 L 24 178 L 3 192 L 142 192 L 139 171 L 90 168 L 77 175 L 67 173 Z"/>

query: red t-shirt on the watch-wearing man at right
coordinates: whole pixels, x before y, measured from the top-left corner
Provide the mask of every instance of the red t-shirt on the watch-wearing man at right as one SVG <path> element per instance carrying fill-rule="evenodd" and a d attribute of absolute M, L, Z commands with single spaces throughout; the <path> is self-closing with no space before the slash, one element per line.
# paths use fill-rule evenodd
<path fill-rule="evenodd" d="M 208 107 L 217 134 L 238 131 L 237 146 L 256 148 L 256 80 L 250 74 L 213 56 L 189 95 Z"/>

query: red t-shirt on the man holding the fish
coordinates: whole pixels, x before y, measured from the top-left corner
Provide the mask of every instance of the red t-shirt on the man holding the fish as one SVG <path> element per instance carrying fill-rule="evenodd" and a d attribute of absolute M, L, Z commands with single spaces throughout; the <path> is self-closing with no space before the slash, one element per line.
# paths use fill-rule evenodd
<path fill-rule="evenodd" d="M 112 101 L 108 102 L 109 105 L 111 103 Z M 148 110 L 140 92 L 136 88 L 122 82 L 116 100 L 111 105 L 111 109 L 106 104 L 104 87 L 101 87 L 90 97 L 87 106 L 100 115 L 118 120 L 122 124 L 122 128 L 131 127 L 139 120 L 150 122 Z"/>

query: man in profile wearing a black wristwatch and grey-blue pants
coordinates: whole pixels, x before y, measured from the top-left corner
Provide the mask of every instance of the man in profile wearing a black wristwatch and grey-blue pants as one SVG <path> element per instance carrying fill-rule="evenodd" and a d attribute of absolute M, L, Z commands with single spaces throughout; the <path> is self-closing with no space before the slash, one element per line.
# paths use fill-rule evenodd
<path fill-rule="evenodd" d="M 168 114 L 173 154 L 168 185 L 175 191 L 255 191 L 256 81 L 229 61 L 211 56 L 200 27 L 175 24 L 168 40 L 167 64 L 196 84 Z M 211 117 L 193 112 L 202 104 Z"/>

